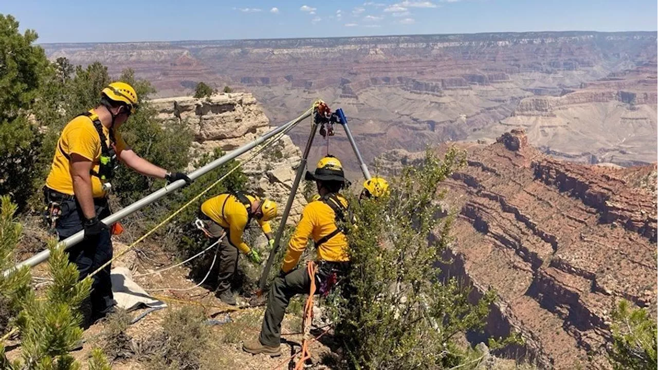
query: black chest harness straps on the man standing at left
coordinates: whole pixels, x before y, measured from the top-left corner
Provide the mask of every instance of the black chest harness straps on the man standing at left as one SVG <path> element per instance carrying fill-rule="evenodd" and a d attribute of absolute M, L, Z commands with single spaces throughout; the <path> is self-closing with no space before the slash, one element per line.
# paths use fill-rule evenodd
<path fill-rule="evenodd" d="M 101 180 L 103 191 L 110 190 L 112 187 L 110 181 L 114 178 L 114 171 L 116 171 L 116 168 L 118 167 L 118 161 L 116 159 L 116 141 L 114 140 L 114 129 L 110 128 L 109 130 L 110 146 L 108 147 L 107 143 L 105 142 L 105 140 L 108 138 L 105 136 L 105 134 L 103 134 L 103 124 L 101 124 L 101 120 L 98 119 L 98 115 L 88 111 L 78 115 L 77 117 L 82 116 L 91 120 L 101 142 L 101 156 L 99 157 L 98 172 L 91 169 L 89 170 L 89 173 L 91 176 L 95 176 Z M 57 142 L 57 147 L 59 148 L 60 153 L 64 155 L 64 158 L 70 161 L 70 154 L 64 151 L 61 138 Z"/>

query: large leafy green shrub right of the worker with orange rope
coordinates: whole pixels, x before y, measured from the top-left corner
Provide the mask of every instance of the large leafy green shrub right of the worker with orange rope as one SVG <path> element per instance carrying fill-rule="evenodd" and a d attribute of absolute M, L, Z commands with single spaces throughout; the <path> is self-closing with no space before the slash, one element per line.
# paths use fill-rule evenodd
<path fill-rule="evenodd" d="M 455 149 L 442 160 L 427 151 L 422 165 L 392 181 L 390 196 L 361 203 L 352 197 L 352 269 L 343 294 L 330 300 L 350 368 L 434 369 L 467 361 L 455 336 L 484 324 L 493 293 L 472 305 L 469 290 L 439 280 L 435 267 L 452 221 L 436 217 L 445 195 L 437 187 L 463 163 Z"/>

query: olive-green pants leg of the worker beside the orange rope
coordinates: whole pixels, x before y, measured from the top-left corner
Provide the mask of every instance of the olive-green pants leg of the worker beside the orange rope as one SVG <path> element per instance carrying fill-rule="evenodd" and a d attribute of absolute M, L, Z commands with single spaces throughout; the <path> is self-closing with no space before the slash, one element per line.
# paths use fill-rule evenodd
<path fill-rule="evenodd" d="M 281 321 L 284 319 L 290 299 L 296 294 L 307 294 L 311 289 L 311 277 L 304 265 L 288 273 L 285 277 L 276 277 L 267 296 L 267 309 L 261 327 L 261 344 L 279 346 L 281 342 Z"/>

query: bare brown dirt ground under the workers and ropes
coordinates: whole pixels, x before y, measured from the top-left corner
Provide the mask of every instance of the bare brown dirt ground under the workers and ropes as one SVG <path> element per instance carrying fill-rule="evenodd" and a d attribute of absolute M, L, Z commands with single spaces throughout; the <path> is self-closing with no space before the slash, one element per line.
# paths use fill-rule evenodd
<path fill-rule="evenodd" d="M 125 248 L 123 244 L 115 243 L 114 252 Z M 164 255 L 157 246 L 145 244 L 140 246 L 138 252 L 130 251 L 114 263 L 113 267 L 128 267 L 132 273 L 149 273 L 157 269 L 162 269 L 176 263 L 170 256 Z M 47 276 L 46 265 L 41 265 L 33 270 L 36 277 Z M 282 356 L 269 357 L 266 355 L 251 355 L 243 352 L 241 349 L 244 340 L 257 338 L 260 332 L 260 326 L 265 311 L 264 305 L 249 305 L 245 298 L 238 298 L 238 307 L 232 307 L 221 302 L 215 297 L 211 286 L 195 287 L 198 282 L 188 278 L 190 269 L 187 267 L 175 267 L 164 273 L 156 273 L 145 277 L 136 277 L 134 280 L 144 288 L 149 294 L 153 294 L 158 299 L 166 302 L 165 309 L 153 311 L 146 315 L 137 323 L 130 325 L 126 334 L 132 337 L 132 342 L 139 348 L 139 344 L 162 329 L 164 317 L 168 311 L 174 309 L 202 309 L 205 317 L 215 319 L 216 321 L 226 321 L 230 319 L 229 324 L 211 325 L 211 344 L 209 345 L 209 356 L 212 361 L 206 365 L 207 369 L 254 369 L 254 370 L 274 370 L 287 369 L 290 365 L 294 366 L 294 359 L 299 356 L 302 335 L 301 318 L 292 313 L 287 313 L 282 325 Z M 41 282 L 41 280 L 35 280 Z M 38 292 L 43 292 L 45 286 L 41 284 L 37 288 Z M 184 292 L 174 290 L 156 291 L 161 288 L 189 289 Z M 146 309 L 138 309 L 129 313 L 131 317 L 138 317 Z M 89 327 L 84 332 L 84 345 L 82 350 L 72 352 L 72 355 L 80 362 L 82 369 L 88 369 L 88 359 L 91 351 L 101 346 L 103 343 L 103 334 L 107 321 L 99 321 Z M 327 329 L 313 329 L 311 334 L 318 336 Z M 327 369 L 328 367 L 320 365 L 322 356 L 330 352 L 326 344 L 330 344 L 331 332 L 323 334 L 319 340 L 315 340 L 310 348 L 313 356 L 313 363 L 316 369 Z M 7 357 L 16 359 L 20 357 L 20 342 L 9 342 L 7 347 Z M 138 370 L 149 369 L 144 358 L 134 356 L 130 359 L 113 361 L 112 368 L 118 370 Z M 152 367 L 151 367 L 152 369 Z"/>

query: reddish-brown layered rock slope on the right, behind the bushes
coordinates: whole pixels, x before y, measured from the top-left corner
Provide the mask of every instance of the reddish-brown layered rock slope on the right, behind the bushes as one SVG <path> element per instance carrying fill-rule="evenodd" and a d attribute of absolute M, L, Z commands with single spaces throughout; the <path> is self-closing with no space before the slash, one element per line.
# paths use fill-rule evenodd
<path fill-rule="evenodd" d="M 656 167 L 557 161 L 522 130 L 459 145 L 468 165 L 442 184 L 459 215 L 443 272 L 496 290 L 486 332 L 519 331 L 526 345 L 514 356 L 545 369 L 607 369 L 615 304 L 655 311 Z"/>

